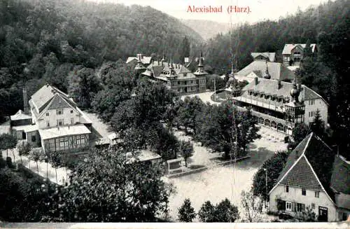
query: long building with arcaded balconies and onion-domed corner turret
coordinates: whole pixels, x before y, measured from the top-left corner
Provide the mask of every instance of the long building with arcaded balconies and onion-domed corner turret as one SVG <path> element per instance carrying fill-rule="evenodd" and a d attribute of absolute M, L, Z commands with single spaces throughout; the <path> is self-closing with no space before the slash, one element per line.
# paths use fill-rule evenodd
<path fill-rule="evenodd" d="M 305 85 L 255 77 L 238 96 L 233 97 L 241 109 L 251 108 L 258 123 L 292 134 L 297 123 L 310 125 L 318 110 L 324 125 L 328 123 L 328 103 Z"/>

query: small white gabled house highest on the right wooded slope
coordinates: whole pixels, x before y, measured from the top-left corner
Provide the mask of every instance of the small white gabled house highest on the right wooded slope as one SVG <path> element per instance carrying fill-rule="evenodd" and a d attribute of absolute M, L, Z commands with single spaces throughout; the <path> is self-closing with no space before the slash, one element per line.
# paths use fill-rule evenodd
<path fill-rule="evenodd" d="M 305 43 L 286 43 L 282 51 L 283 64 L 285 66 L 299 67 L 304 57 Z M 316 43 L 310 44 L 311 53 L 317 53 Z"/>

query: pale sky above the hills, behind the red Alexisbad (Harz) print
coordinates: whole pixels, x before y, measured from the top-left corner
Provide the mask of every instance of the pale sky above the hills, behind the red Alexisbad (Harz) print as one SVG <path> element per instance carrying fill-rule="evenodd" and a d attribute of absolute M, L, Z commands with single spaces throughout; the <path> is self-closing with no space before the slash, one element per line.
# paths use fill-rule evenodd
<path fill-rule="evenodd" d="M 137 4 L 151 6 L 159 11 L 167 13 L 179 19 L 212 20 L 230 24 L 242 22 L 259 22 L 261 20 L 278 20 L 288 14 L 302 11 L 309 6 L 323 3 L 328 0 L 89 0 L 97 2 L 113 2 L 130 6 Z M 223 8 L 223 13 L 190 13 L 188 6 L 193 8 L 203 6 L 214 6 Z M 249 13 L 227 12 L 229 6 L 249 8 Z"/>

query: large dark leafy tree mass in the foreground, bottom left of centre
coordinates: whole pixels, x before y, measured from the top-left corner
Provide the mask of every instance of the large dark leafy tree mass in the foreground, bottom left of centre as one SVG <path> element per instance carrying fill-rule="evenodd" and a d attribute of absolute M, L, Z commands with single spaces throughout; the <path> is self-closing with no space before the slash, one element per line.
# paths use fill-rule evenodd
<path fill-rule="evenodd" d="M 130 162 L 123 149 L 91 153 L 76 167 L 71 184 L 51 195 L 43 221 L 155 221 L 171 193 L 160 178 L 158 165 Z"/>

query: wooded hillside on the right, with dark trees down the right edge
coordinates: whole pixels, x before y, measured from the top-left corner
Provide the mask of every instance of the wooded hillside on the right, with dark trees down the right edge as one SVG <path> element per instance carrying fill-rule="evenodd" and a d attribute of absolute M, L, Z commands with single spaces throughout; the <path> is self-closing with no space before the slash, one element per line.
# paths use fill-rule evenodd
<path fill-rule="evenodd" d="M 330 104 L 333 140 L 329 142 L 349 157 L 350 1 L 328 1 L 278 21 L 241 25 L 232 34 L 220 34 L 207 43 L 206 64 L 218 74 L 230 71 L 231 44 L 234 53 L 238 50 L 237 69 L 241 69 L 252 61 L 251 52 L 276 52 L 281 62 L 285 43 L 317 43 L 318 55 L 304 58 L 297 78 Z"/>

